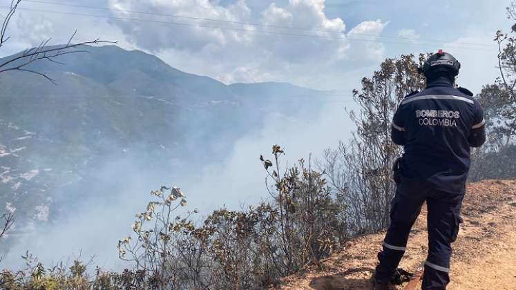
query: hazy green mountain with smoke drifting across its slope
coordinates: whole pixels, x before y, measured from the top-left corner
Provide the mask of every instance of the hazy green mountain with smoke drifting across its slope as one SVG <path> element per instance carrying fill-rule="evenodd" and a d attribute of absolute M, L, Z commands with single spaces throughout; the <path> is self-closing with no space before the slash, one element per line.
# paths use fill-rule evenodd
<path fill-rule="evenodd" d="M 19 220 L 46 222 L 64 204 L 75 210 L 85 198 L 108 199 L 129 178 L 126 165 L 103 171 L 110 164 L 150 176 L 218 162 L 267 114 L 316 115 L 326 94 L 281 83 L 228 86 L 142 51 L 85 49 L 59 57 L 64 65 L 30 64 L 56 84 L 27 72 L 0 75 L 0 205 L 15 206 Z"/>

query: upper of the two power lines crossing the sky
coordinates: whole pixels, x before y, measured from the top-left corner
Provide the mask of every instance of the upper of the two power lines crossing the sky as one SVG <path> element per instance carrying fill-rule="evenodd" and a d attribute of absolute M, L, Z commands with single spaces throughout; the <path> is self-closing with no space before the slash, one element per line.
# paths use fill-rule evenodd
<path fill-rule="evenodd" d="M 162 17 L 174 17 L 174 18 L 180 18 L 180 19 L 216 21 L 216 22 L 222 22 L 222 23 L 239 24 L 239 25 L 244 25 L 244 26 L 281 28 L 281 29 L 301 30 L 301 31 L 306 31 L 306 32 L 329 32 L 329 33 L 338 33 L 338 34 L 343 33 L 342 31 L 330 30 L 330 29 L 299 28 L 299 27 L 294 27 L 294 26 L 276 26 L 276 25 L 263 24 L 263 23 L 231 21 L 231 20 L 227 20 L 227 19 L 210 19 L 210 18 L 203 18 L 203 17 L 189 17 L 189 16 L 184 16 L 184 15 L 178 15 L 178 14 L 163 14 L 163 13 L 157 13 L 157 12 L 145 12 L 145 11 L 137 11 L 137 10 L 122 10 L 122 9 L 106 8 L 106 7 L 98 7 L 98 6 L 86 6 L 86 5 L 73 4 L 73 3 L 60 3 L 60 2 L 54 2 L 54 1 L 42 1 L 42 0 L 25 0 L 25 1 L 32 2 L 32 3 L 50 4 L 50 5 L 56 5 L 56 6 L 78 7 L 78 8 L 87 8 L 87 9 L 95 9 L 95 10 L 133 13 L 133 14 L 147 14 L 147 15 L 162 16 Z M 442 39 L 419 39 L 419 38 L 414 38 L 414 37 L 400 37 L 400 36 L 393 36 L 393 35 L 370 35 L 367 33 L 356 33 L 356 32 L 350 32 L 350 33 L 347 33 L 347 35 L 358 35 L 358 36 L 380 37 L 380 38 L 391 38 L 391 39 L 406 39 L 406 40 L 412 40 L 412 41 L 425 41 L 425 42 L 429 42 L 429 41 L 449 42 L 449 41 L 445 41 Z M 456 42 L 456 43 L 470 45 L 470 46 L 490 46 L 489 44 L 486 44 L 486 43 L 470 43 L 470 42 Z"/>

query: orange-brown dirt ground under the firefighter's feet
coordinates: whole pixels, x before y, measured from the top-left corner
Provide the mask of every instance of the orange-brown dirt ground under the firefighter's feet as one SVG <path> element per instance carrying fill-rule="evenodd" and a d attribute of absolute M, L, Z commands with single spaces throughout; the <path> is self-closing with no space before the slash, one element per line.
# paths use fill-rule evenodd
<path fill-rule="evenodd" d="M 516 290 L 516 181 L 470 184 L 452 244 L 451 290 Z M 385 233 L 348 242 L 323 262 L 324 271 L 283 278 L 276 289 L 372 289 L 371 274 Z M 400 267 L 414 271 L 426 259 L 426 210 L 421 211 Z M 403 289 L 401 285 L 395 289 Z"/>

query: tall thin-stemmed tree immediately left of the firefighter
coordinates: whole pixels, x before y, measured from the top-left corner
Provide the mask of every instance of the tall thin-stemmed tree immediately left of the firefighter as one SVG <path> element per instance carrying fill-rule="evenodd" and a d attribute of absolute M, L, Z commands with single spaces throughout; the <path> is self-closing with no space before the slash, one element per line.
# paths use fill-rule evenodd
<path fill-rule="evenodd" d="M 419 55 L 419 65 L 425 59 Z M 372 78 L 364 77 L 361 90 L 353 90 L 360 109 L 348 112 L 356 126 L 350 143 L 325 151 L 323 167 L 344 196 L 350 233 L 373 233 L 388 226 L 395 191 L 391 170 L 402 151 L 390 139 L 391 122 L 401 99 L 426 84 L 417 67 L 414 55 L 402 55 L 385 59 Z"/>

